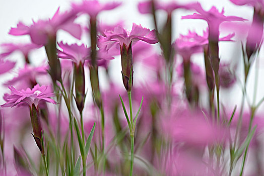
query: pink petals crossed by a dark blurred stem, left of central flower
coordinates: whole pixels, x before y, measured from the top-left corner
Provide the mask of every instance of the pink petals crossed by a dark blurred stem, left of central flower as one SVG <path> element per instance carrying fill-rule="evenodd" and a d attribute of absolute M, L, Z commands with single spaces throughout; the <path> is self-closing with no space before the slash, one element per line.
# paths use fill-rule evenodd
<path fill-rule="evenodd" d="M 71 59 L 77 65 L 80 63 L 84 64 L 86 60 L 91 62 L 91 47 L 87 48 L 84 44 L 68 45 L 63 42 L 58 43 L 58 46 L 62 49 L 62 51 L 58 50 L 58 58 Z M 103 49 L 100 49 L 97 52 L 97 59 L 100 64 L 105 63 L 102 60 L 110 60 L 114 58 L 109 56 L 109 54 L 106 51 L 103 51 Z"/>

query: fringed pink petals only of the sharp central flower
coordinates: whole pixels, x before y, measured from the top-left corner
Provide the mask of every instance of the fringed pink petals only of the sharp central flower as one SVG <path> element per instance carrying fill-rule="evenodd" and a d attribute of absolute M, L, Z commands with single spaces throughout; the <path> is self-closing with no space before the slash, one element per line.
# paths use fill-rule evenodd
<path fill-rule="evenodd" d="M 105 37 L 100 36 L 97 42 L 99 48 L 105 48 L 109 50 L 111 47 L 119 48 L 123 44 L 128 47 L 131 42 L 144 41 L 149 44 L 158 43 L 158 39 L 155 34 L 155 30 L 150 31 L 147 28 L 143 28 L 141 25 L 133 23 L 131 31 L 127 31 L 122 26 L 117 26 L 112 31 L 105 31 Z"/>

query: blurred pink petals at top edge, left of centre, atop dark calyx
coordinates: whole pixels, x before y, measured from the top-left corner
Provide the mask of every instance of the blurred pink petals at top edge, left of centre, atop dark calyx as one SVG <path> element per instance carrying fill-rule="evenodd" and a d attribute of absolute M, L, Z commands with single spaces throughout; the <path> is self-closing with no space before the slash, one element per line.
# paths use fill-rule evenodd
<path fill-rule="evenodd" d="M 84 0 L 81 3 L 72 3 L 72 8 L 77 13 L 86 13 L 91 18 L 96 18 L 100 12 L 115 9 L 121 4 L 121 2 L 100 4 L 97 0 Z"/>

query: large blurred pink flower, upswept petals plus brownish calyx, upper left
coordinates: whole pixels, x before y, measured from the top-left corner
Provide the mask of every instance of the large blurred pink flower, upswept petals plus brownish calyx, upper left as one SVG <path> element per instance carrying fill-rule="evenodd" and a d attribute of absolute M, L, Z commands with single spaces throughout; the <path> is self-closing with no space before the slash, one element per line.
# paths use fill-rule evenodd
<path fill-rule="evenodd" d="M 49 74 L 55 84 L 56 80 L 61 80 L 61 68 L 56 53 L 56 33 L 59 29 L 69 32 L 77 39 L 81 39 L 82 29 L 79 24 L 74 23 L 75 12 L 59 13 L 59 8 L 51 19 L 39 20 L 32 25 L 26 26 L 19 22 L 17 28 L 11 28 L 11 35 L 30 35 L 33 43 L 45 45 L 49 60 Z"/>

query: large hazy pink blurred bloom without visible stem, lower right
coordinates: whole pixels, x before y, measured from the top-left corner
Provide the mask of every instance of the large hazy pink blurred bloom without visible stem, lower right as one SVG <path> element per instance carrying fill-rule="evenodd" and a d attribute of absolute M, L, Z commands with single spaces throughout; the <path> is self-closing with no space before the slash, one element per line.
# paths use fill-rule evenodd
<path fill-rule="evenodd" d="M 161 119 L 162 131 L 175 142 L 203 146 L 223 142 L 227 132 L 205 119 L 201 111 L 182 109 Z"/>

